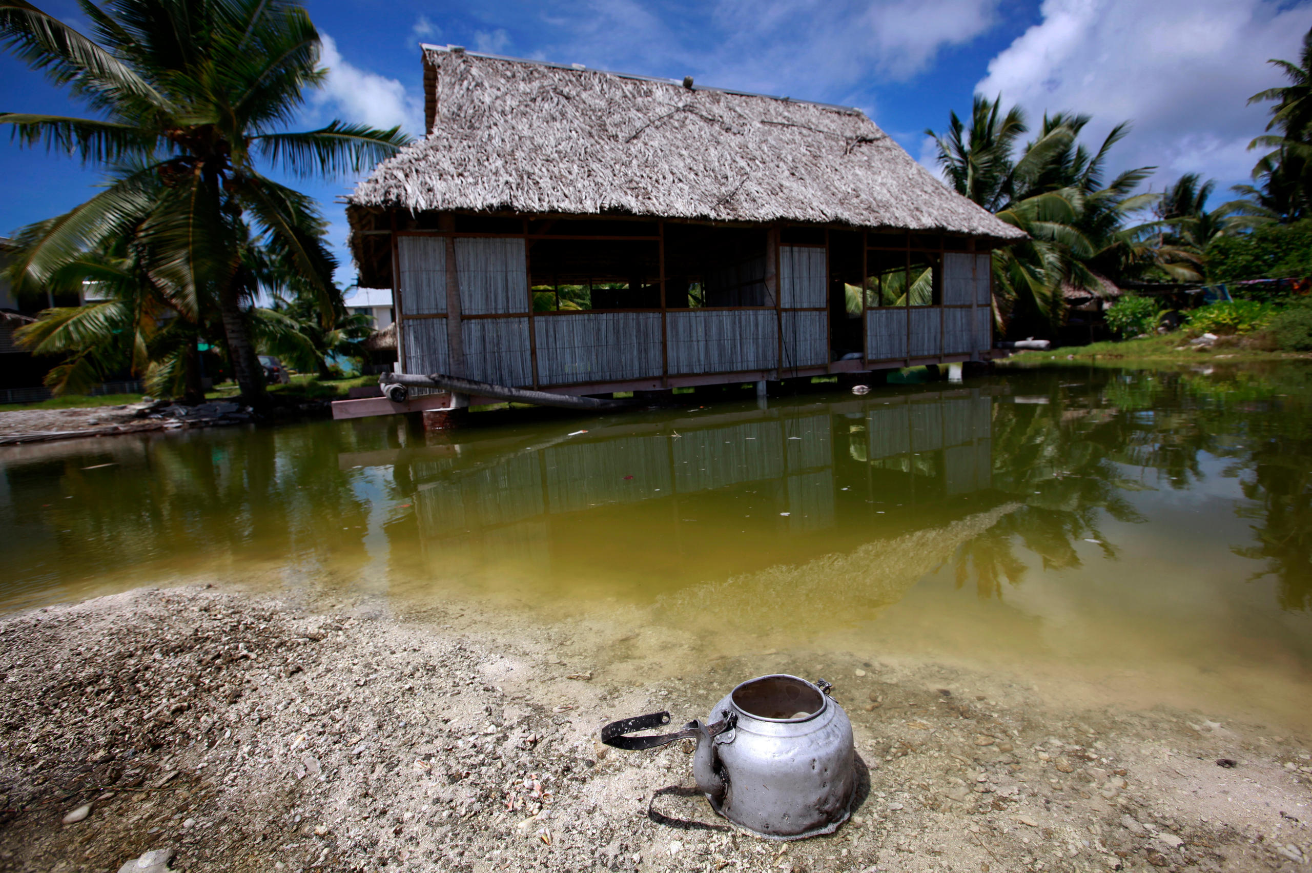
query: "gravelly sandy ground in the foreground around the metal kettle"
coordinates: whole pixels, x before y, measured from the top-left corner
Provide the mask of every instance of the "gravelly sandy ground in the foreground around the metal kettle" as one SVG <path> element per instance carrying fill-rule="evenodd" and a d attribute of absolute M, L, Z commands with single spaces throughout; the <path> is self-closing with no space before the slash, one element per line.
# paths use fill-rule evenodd
<path fill-rule="evenodd" d="M 678 646 L 649 629 L 395 609 L 189 587 L 0 620 L 0 869 L 1308 869 L 1312 755 L 1258 726 L 807 652 L 652 681 Z M 829 679 L 851 717 L 869 789 L 830 836 L 728 830 L 677 790 L 682 744 L 596 740 L 768 672 Z"/>

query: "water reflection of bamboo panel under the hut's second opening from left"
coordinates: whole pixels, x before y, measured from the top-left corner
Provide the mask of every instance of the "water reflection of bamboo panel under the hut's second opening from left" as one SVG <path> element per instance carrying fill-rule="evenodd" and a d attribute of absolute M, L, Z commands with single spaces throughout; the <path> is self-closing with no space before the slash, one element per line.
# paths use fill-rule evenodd
<path fill-rule="evenodd" d="M 783 475 L 785 440 L 778 421 L 685 431 L 672 442 L 674 488 L 680 494 Z"/>

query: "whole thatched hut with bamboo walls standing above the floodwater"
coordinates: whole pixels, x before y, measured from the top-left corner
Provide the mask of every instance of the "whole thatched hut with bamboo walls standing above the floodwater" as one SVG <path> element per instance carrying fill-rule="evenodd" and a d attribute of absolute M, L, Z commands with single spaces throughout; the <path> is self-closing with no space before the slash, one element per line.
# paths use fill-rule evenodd
<path fill-rule="evenodd" d="M 602 394 L 989 354 L 1023 234 L 857 109 L 458 46 L 424 92 L 348 206 L 399 372 Z"/>

